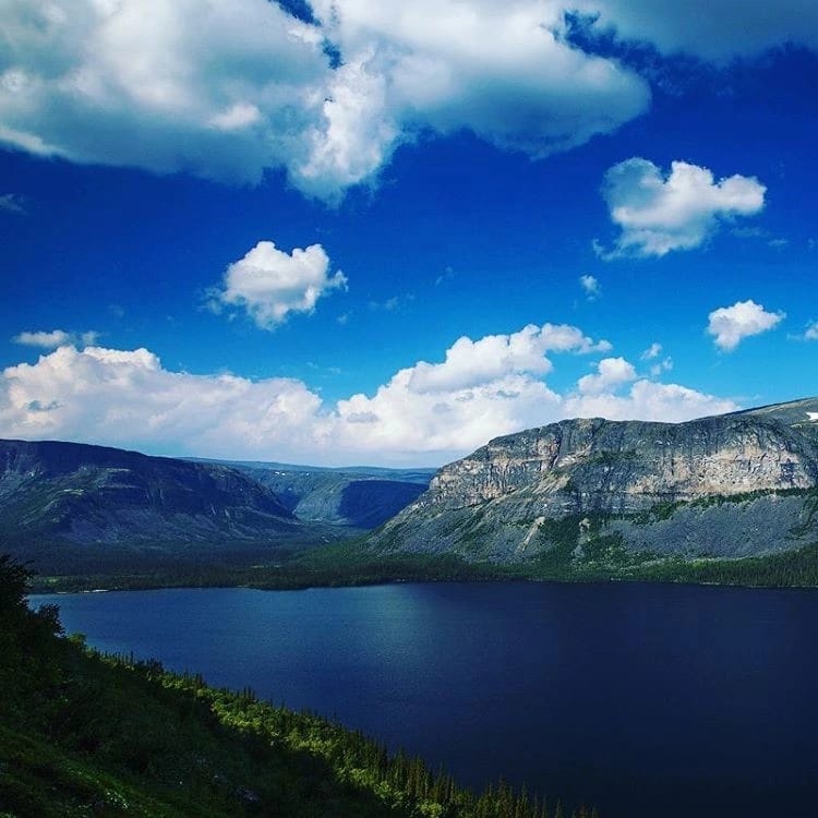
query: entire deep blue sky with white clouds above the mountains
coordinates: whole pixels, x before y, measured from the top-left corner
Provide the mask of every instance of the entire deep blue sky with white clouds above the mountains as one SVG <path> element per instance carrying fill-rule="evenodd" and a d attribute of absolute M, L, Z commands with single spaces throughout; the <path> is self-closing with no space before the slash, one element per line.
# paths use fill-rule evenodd
<path fill-rule="evenodd" d="M 440 466 L 818 394 L 814 0 L 0 0 L 0 436 Z"/>

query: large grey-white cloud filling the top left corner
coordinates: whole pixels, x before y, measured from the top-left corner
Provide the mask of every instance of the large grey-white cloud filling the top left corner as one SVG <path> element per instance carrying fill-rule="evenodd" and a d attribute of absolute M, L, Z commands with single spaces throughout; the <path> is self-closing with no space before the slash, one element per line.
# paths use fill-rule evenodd
<path fill-rule="evenodd" d="M 0 141 L 257 181 L 320 117 L 321 33 L 266 0 L 5 0 Z"/>

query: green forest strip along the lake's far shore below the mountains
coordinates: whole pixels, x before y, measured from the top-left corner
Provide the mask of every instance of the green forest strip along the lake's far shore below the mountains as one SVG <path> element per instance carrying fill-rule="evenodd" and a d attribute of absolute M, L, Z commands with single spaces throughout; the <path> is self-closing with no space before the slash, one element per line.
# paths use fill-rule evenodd
<path fill-rule="evenodd" d="M 804 500 L 803 522 L 791 533 L 806 537 L 818 518 L 818 492 L 779 490 L 750 495 L 706 497 L 688 503 L 691 508 L 708 508 L 726 503 L 742 503 L 759 495 L 797 496 Z M 469 555 L 480 551 L 483 518 L 474 513 L 460 529 L 461 554 L 410 553 L 389 550 L 381 543 L 375 552 L 365 538 L 345 542 L 288 550 L 270 548 L 232 556 L 213 551 L 196 554 L 195 548 L 184 560 L 170 562 L 146 553 L 144 561 L 133 553 L 122 563 L 113 556 L 97 572 L 37 577 L 33 590 L 38 592 L 104 589 L 145 589 L 172 587 L 249 587 L 290 590 L 310 587 L 380 585 L 384 582 L 485 581 L 485 580 L 650 580 L 713 582 L 746 586 L 807 587 L 818 586 L 818 560 L 815 548 L 767 556 L 690 557 L 662 556 L 650 551 L 628 548 L 623 534 L 612 531 L 611 520 L 630 520 L 648 525 L 672 517 L 685 504 L 658 503 L 650 510 L 628 515 L 568 515 L 560 519 L 519 520 L 516 526 L 528 531 L 537 525 L 532 556 L 517 563 L 473 561 Z M 462 520 L 454 520 L 457 528 Z M 811 538 L 810 538 L 811 539 Z M 809 540 L 807 540 L 809 543 Z M 29 551 L 36 553 L 36 548 Z M 113 551 L 113 550 L 111 550 Z M 116 554 L 116 552 L 115 552 Z M 87 557 L 91 560 L 91 556 Z M 89 565 L 86 562 L 85 565 Z"/>

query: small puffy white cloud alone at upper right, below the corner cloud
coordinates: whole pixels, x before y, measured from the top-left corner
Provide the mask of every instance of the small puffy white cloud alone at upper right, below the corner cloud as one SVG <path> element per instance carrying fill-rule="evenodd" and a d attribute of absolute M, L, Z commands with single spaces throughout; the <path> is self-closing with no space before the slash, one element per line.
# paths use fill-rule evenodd
<path fill-rule="evenodd" d="M 701 245 L 720 220 L 750 216 L 765 204 L 766 188 L 739 175 L 714 181 L 707 168 L 671 163 L 666 178 L 648 159 L 635 157 L 605 173 L 602 195 L 622 229 L 606 258 L 663 256 Z"/>

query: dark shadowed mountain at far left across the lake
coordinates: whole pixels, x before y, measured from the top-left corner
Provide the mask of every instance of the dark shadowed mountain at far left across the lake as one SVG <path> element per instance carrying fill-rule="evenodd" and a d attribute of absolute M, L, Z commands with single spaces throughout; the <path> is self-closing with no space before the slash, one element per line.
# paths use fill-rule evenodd
<path fill-rule="evenodd" d="M 269 489 L 226 466 L 76 443 L 0 441 L 0 541 L 37 567 L 222 555 L 321 542 Z"/>

